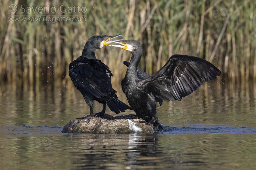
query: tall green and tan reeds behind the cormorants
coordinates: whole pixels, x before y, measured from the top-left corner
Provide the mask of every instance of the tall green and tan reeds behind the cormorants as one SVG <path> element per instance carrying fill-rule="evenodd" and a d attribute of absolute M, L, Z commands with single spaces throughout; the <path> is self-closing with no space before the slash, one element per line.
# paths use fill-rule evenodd
<path fill-rule="evenodd" d="M 10 21 L 14 14 L 52 21 Z M 55 7 L 56 12 L 26 11 L 27 7 Z M 67 12 L 59 8 L 65 5 Z M 143 47 L 140 68 L 153 74 L 172 54 L 194 55 L 212 62 L 232 81 L 256 78 L 256 2 L 254 1 L 57 1 L 7 0 L 0 2 L 0 80 L 33 86 L 39 83 L 62 84 L 68 80 L 68 65 L 82 54 L 93 35 L 123 34 L 124 39 L 139 40 Z M 82 13 L 73 8 L 80 6 Z M 54 8 L 53 8 L 54 9 Z M 86 9 L 86 12 L 85 12 Z M 15 8 L 11 8 L 15 10 Z M 77 9 L 76 9 L 77 10 Z M 79 21 L 56 21 L 60 16 L 74 16 Z M 58 15 L 58 16 L 57 16 Z M 131 54 L 105 47 L 96 56 L 114 74 L 113 83 L 124 77 Z"/>

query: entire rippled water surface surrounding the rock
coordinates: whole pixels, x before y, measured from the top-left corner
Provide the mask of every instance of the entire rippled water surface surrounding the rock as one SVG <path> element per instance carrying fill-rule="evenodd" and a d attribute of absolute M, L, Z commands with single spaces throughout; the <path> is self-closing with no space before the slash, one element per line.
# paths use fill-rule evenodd
<path fill-rule="evenodd" d="M 62 134 L 89 114 L 67 85 L 1 85 L 4 169 L 254 169 L 255 84 L 210 82 L 182 101 L 158 106 L 165 130 L 153 134 Z M 122 90 L 119 98 L 127 102 Z M 102 105 L 95 102 L 96 112 Z M 111 113 L 107 108 L 106 112 Z M 133 114 L 132 111 L 126 114 Z"/>

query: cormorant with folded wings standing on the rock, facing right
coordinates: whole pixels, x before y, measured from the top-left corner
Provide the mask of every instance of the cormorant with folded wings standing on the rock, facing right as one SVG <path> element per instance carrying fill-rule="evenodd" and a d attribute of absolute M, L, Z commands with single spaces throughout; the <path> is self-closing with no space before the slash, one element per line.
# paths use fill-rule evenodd
<path fill-rule="evenodd" d="M 85 102 L 90 107 L 90 116 L 103 116 L 108 104 L 111 111 L 116 114 L 131 109 L 122 101 L 118 100 L 116 90 L 112 88 L 109 67 L 97 60 L 94 51 L 110 44 L 113 38 L 122 36 L 92 36 L 84 46 L 80 57 L 69 64 L 69 76 L 77 90 L 79 90 Z M 101 112 L 93 113 L 93 101 L 103 103 Z M 84 118 L 84 117 L 83 117 Z"/>

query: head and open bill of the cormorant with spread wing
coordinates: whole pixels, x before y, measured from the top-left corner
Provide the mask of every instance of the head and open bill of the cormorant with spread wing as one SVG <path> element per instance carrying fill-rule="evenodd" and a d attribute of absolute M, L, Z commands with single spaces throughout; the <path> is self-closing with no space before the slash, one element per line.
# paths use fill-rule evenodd
<path fill-rule="evenodd" d="M 112 47 L 119 47 L 131 53 L 142 53 L 142 47 L 139 41 L 136 40 L 110 40 L 109 43 L 117 43 L 119 45 L 109 45 Z"/>

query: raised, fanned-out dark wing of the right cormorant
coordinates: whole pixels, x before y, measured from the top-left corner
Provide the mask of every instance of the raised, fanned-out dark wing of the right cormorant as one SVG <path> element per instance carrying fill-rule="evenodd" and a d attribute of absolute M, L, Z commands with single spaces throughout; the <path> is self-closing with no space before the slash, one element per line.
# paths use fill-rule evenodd
<path fill-rule="evenodd" d="M 212 81 L 220 75 L 219 69 L 202 58 L 172 55 L 159 71 L 142 81 L 141 85 L 147 86 L 156 97 L 175 101 L 196 91 L 203 82 Z"/>

